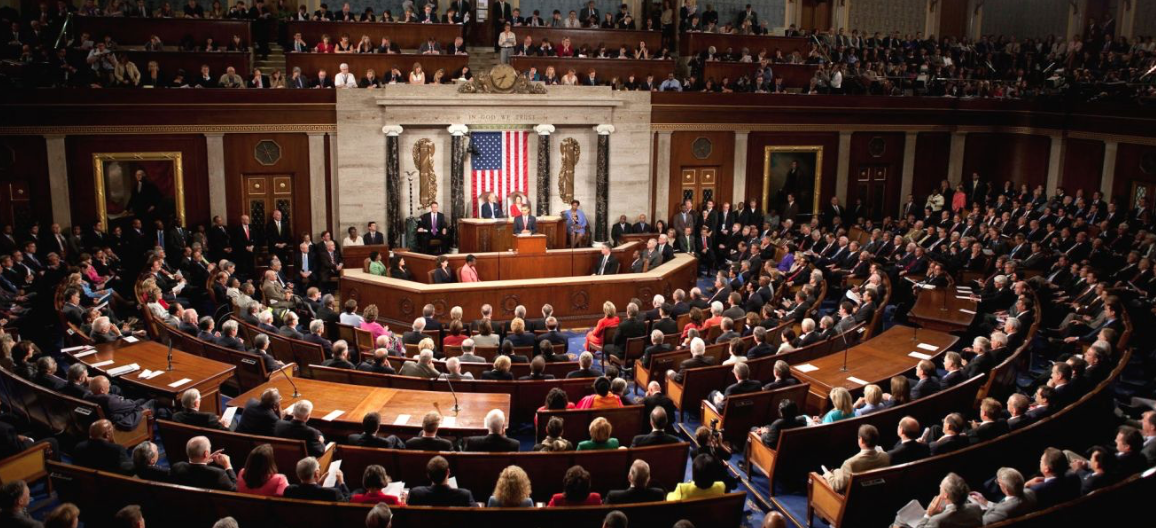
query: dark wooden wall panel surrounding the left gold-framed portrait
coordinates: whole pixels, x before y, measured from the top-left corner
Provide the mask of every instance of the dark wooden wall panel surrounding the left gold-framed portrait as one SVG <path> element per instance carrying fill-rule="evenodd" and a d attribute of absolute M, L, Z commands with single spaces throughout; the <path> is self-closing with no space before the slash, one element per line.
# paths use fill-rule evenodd
<path fill-rule="evenodd" d="M 197 225 L 209 222 L 209 183 L 203 135 L 71 135 L 65 140 L 65 148 L 73 223 L 92 223 L 97 220 L 94 154 L 171 151 L 181 153 L 185 223 Z"/>

